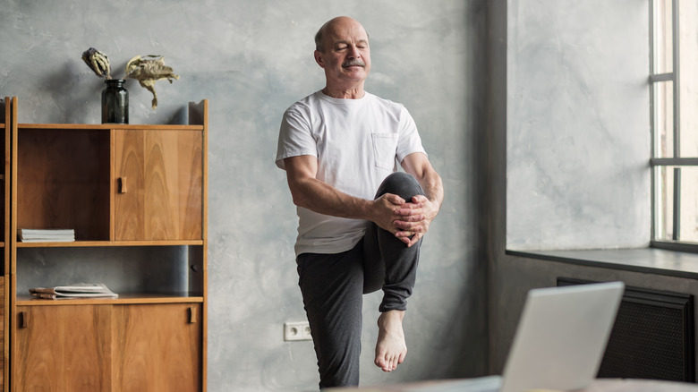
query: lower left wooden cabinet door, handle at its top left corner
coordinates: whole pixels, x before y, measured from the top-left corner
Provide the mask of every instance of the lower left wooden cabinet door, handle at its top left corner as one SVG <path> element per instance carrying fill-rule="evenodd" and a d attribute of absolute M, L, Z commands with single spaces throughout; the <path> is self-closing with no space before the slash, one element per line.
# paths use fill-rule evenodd
<path fill-rule="evenodd" d="M 111 305 L 18 306 L 14 391 L 111 391 Z"/>

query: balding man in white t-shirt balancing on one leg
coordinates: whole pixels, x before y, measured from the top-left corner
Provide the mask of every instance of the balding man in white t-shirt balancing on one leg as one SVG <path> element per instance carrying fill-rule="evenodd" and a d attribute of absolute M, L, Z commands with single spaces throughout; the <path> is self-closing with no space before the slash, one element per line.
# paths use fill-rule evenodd
<path fill-rule="evenodd" d="M 370 48 L 362 25 L 332 19 L 315 45 L 326 86 L 286 110 L 276 163 L 299 216 L 296 262 L 319 386 L 355 386 L 362 294 L 384 293 L 376 365 L 394 371 L 404 361 L 406 301 L 443 186 L 412 116 L 364 91 Z M 396 172 L 396 159 L 406 174 Z"/>

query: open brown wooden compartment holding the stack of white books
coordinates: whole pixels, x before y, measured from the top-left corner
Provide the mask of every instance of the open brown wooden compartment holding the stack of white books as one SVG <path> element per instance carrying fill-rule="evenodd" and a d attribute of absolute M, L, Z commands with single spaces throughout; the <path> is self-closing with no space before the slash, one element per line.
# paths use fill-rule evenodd
<path fill-rule="evenodd" d="M 17 144 L 17 228 L 108 240 L 109 132 L 21 127 Z"/>

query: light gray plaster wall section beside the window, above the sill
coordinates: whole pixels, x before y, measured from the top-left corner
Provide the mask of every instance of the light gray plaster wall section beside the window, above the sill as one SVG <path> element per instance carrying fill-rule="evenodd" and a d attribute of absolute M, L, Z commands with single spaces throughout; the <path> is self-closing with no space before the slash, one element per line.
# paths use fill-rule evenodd
<path fill-rule="evenodd" d="M 507 15 L 507 247 L 648 244 L 648 2 L 511 0 Z"/>

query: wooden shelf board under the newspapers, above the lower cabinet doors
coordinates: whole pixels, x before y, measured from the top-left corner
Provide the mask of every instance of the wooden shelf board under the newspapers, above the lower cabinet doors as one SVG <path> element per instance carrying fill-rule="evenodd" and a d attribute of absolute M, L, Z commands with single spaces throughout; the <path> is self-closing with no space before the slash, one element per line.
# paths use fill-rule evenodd
<path fill-rule="evenodd" d="M 119 294 L 118 298 L 71 298 L 46 300 L 32 298 L 30 294 L 17 295 L 17 306 L 60 305 L 126 305 L 132 303 L 203 303 L 200 293 L 175 294 Z"/>

